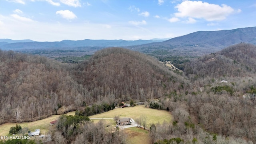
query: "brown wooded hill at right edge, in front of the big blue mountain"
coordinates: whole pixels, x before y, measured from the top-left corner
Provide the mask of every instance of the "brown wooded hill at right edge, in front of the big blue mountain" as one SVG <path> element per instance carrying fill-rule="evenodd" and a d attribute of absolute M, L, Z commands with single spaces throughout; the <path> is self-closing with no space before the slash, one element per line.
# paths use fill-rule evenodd
<path fill-rule="evenodd" d="M 194 59 L 184 66 L 186 76 L 191 79 L 244 77 L 256 75 L 256 46 L 240 43 L 219 52 Z"/>

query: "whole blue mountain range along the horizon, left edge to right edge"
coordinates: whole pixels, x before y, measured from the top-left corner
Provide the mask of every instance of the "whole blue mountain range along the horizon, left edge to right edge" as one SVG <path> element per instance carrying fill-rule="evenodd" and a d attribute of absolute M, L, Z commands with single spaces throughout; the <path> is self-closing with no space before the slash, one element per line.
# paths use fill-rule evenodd
<path fill-rule="evenodd" d="M 15 42 L 15 43 L 14 43 Z M 256 44 L 256 27 L 234 30 L 198 31 L 176 38 L 152 40 L 32 40 L 0 39 L 2 50 L 85 50 L 124 47 L 154 56 L 202 56 L 241 42 Z"/>

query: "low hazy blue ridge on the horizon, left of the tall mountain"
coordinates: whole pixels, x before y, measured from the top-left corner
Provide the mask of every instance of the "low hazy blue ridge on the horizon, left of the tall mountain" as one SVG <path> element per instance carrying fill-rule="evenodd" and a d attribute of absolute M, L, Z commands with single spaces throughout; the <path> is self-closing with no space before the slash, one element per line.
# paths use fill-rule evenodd
<path fill-rule="evenodd" d="M 36 42 L 32 40 L 11 40 L 0 39 L 2 50 L 19 49 L 42 49 L 42 48 L 74 48 L 74 47 L 120 47 L 152 42 L 162 42 L 164 40 L 62 40 L 60 42 Z"/>

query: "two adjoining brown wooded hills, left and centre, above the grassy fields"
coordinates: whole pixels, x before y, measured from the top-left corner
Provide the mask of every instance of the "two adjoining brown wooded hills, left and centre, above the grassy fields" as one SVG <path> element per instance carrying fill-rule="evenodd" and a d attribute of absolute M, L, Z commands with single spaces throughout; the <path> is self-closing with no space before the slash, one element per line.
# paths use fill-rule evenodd
<path fill-rule="evenodd" d="M 1 123 L 38 120 L 58 113 L 62 106 L 67 112 L 189 89 L 184 78 L 156 59 L 122 48 L 100 50 L 82 64 L 13 51 L 0 51 L 0 60 Z"/>

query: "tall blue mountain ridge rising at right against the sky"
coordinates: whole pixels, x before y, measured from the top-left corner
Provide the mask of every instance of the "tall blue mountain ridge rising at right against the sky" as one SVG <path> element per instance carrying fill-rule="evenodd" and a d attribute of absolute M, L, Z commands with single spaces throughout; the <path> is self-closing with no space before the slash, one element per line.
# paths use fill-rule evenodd
<path fill-rule="evenodd" d="M 172 45 L 209 44 L 217 47 L 226 47 L 240 42 L 256 44 L 256 27 L 238 28 L 234 30 L 198 31 L 172 38 L 162 43 Z"/>

